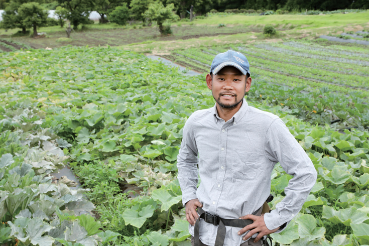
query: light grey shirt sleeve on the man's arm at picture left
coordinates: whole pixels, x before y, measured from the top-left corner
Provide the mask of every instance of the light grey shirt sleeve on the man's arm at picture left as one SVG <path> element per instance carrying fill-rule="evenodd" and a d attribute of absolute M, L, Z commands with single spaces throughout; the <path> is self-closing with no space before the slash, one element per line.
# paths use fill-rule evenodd
<path fill-rule="evenodd" d="M 183 139 L 177 156 L 178 181 L 182 190 L 183 206 L 192 199 L 196 199 L 198 182 L 198 150 L 196 147 L 193 128 L 193 115 L 189 117 L 183 127 Z"/>

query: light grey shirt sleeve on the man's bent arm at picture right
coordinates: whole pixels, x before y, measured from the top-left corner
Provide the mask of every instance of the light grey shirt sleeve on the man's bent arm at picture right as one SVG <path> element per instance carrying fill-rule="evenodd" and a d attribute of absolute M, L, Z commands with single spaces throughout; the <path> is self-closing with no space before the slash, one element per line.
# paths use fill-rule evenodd
<path fill-rule="evenodd" d="M 317 172 L 304 149 L 280 118 L 275 119 L 267 130 L 265 153 L 271 161 L 279 162 L 285 172 L 293 176 L 285 188 L 285 198 L 277 203 L 275 210 L 264 215 L 266 226 L 273 230 L 284 223 L 288 224 L 301 210 L 315 184 Z"/>

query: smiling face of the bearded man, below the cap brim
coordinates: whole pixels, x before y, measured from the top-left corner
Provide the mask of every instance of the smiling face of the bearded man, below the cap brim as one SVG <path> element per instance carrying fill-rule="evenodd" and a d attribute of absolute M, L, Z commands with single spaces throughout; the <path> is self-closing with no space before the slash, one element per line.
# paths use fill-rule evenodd
<path fill-rule="evenodd" d="M 251 77 L 246 79 L 246 75 L 237 68 L 225 66 L 212 78 L 208 74 L 206 84 L 220 107 L 232 109 L 242 101 L 245 92 L 250 90 Z"/>

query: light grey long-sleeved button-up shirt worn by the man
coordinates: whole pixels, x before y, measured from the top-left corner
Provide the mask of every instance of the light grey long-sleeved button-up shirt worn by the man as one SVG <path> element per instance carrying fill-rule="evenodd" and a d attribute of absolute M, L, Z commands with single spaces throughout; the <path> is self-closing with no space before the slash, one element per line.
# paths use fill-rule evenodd
<path fill-rule="evenodd" d="M 300 211 L 316 181 L 314 165 L 278 116 L 249 106 L 245 99 L 226 122 L 216 106 L 198 110 L 183 128 L 177 157 L 182 202 L 198 198 L 205 211 L 222 218 L 251 214 L 268 198 L 277 162 L 293 178 L 286 197 L 264 216 L 269 229 L 291 221 Z M 217 226 L 202 219 L 199 223 L 200 240 L 214 245 Z M 240 228 L 226 229 L 224 245 L 243 242 L 237 235 Z M 193 230 L 189 225 L 192 235 Z"/>

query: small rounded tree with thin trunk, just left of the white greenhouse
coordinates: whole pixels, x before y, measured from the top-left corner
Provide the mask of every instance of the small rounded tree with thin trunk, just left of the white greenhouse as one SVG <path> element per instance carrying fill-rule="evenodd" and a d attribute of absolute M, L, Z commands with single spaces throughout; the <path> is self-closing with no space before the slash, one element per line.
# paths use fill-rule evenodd
<path fill-rule="evenodd" d="M 33 37 L 37 36 L 37 27 L 45 25 L 47 21 L 47 11 L 35 2 L 21 5 L 18 15 L 26 28 L 33 27 Z"/>

